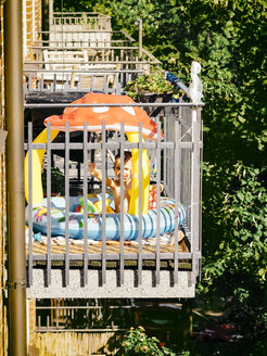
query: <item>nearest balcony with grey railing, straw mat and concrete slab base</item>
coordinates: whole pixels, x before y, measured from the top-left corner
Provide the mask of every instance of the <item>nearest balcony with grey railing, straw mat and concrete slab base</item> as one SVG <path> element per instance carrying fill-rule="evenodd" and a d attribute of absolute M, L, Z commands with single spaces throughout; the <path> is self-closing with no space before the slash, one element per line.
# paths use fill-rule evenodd
<path fill-rule="evenodd" d="M 72 134 L 69 127 L 66 127 L 63 142 L 52 142 L 51 128 L 48 127 L 48 141 L 33 143 L 33 125 L 29 123 L 28 142 L 25 143 L 25 150 L 29 155 L 27 263 L 28 294 L 31 297 L 127 297 L 129 295 L 131 297 L 190 297 L 194 295 L 194 283 L 200 272 L 201 258 L 199 236 L 202 142 L 201 125 L 200 122 L 192 120 L 195 109 L 191 106 L 190 103 L 178 103 L 175 107 L 165 104 L 161 120 L 160 117 L 156 118 L 158 130 L 161 126 L 164 128 L 163 142 L 139 140 L 137 143 L 131 143 L 125 141 L 122 134 L 105 131 L 103 124 L 102 141 L 97 141 L 94 135 L 88 135 L 85 127 L 80 135 L 82 140 L 75 142 L 72 139 L 71 142 Z M 123 127 L 122 130 L 124 130 Z M 140 127 L 140 138 L 141 132 L 142 127 Z M 111 176 L 114 164 L 109 156 L 132 149 L 138 149 L 139 152 L 148 150 L 150 163 L 156 162 L 157 165 L 156 173 L 151 174 L 150 180 L 155 181 L 157 193 L 160 185 L 164 186 L 166 196 L 161 196 L 163 207 L 157 203 L 157 208 L 153 211 L 155 215 L 153 221 L 155 225 L 151 233 L 153 238 L 145 234 L 143 224 L 147 224 L 147 220 L 144 221 L 142 211 L 139 209 L 137 223 L 134 224 L 137 234 L 135 241 L 131 241 L 131 237 L 127 237 L 127 241 L 124 239 L 127 234 L 123 228 L 125 223 L 122 223 L 127 218 L 124 212 L 114 214 L 118 221 L 116 224 L 119 224 L 118 236 L 114 238 L 116 241 L 110 241 L 109 214 L 104 211 L 104 206 L 102 214 L 91 216 L 91 219 L 96 218 L 101 221 L 101 239 L 93 241 L 90 238 L 91 226 L 87 227 L 88 219 L 86 218 L 89 212 L 86 211 L 82 215 L 86 223 L 78 239 L 77 234 L 69 236 L 69 224 L 75 218 L 74 207 L 77 207 L 79 198 L 84 196 L 87 200 L 88 196 L 96 198 L 96 194 L 101 193 L 102 200 L 105 201 L 110 196 L 107 196 L 105 183 L 99 186 L 96 179 L 89 177 L 86 164 L 89 156 L 94 157 L 97 167 L 102 170 L 102 176 L 106 177 Z M 35 160 L 30 161 L 30 156 L 33 157 L 38 150 L 46 151 L 47 163 L 47 200 L 40 206 L 33 204 L 34 189 L 37 188 L 33 188 L 33 174 L 30 174 L 31 171 L 36 174 L 38 168 L 35 166 Z M 56 206 L 51 196 L 51 167 L 55 167 L 60 161 L 54 157 L 54 151 L 63 152 L 64 156 L 63 167 L 59 166 L 59 169 L 63 168 L 65 181 L 64 199 L 61 198 L 62 206 Z M 69 155 L 75 155 L 76 152 L 79 152 L 78 155 L 82 157 L 77 177 L 73 175 L 72 166 L 69 169 Z M 141 170 L 142 158 L 139 160 L 139 171 Z M 142 206 L 142 178 L 139 178 L 139 204 Z M 75 191 L 75 196 L 71 196 L 71 191 Z M 168 207 L 169 200 L 173 207 L 168 214 L 173 214 L 174 221 L 170 230 L 167 229 L 166 233 L 161 234 L 161 224 L 164 225 L 163 220 L 166 218 L 162 217 L 162 209 L 166 201 L 165 207 Z M 187 213 L 185 221 L 178 218 L 179 202 L 182 203 Z M 65 236 L 62 238 L 61 231 L 60 237 L 56 238 L 52 226 L 52 214 L 62 208 L 65 209 Z M 30 213 L 33 209 L 34 215 Z M 41 213 L 40 209 L 44 212 Z M 42 214 L 46 216 L 43 219 L 46 236 L 39 233 L 39 239 L 36 233 L 36 221 L 33 220 L 36 214 L 39 214 L 40 219 Z M 145 239 L 142 239 L 143 236 Z"/>

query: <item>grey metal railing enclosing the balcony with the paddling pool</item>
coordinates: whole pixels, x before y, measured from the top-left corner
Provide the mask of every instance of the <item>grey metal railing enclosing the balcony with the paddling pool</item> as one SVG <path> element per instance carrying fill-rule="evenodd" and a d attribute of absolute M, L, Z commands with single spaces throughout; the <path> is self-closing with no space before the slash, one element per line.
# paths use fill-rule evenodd
<path fill-rule="evenodd" d="M 88 106 L 89 104 L 87 104 Z M 120 104 L 122 107 L 125 106 Z M 156 141 L 142 142 L 142 124 L 139 124 L 139 142 L 132 143 L 125 140 L 125 129 L 122 124 L 120 132 L 106 131 L 105 124 L 103 123 L 101 129 L 101 140 L 97 140 L 94 134 L 88 135 L 87 125 L 84 126 L 84 132 L 80 134 L 80 139 L 77 139 L 77 134 L 72 138 L 68 125 L 65 127 L 65 134 L 61 141 L 51 140 L 51 128 L 48 126 L 48 140 L 42 143 L 34 143 L 33 125 L 28 125 L 27 142 L 25 150 L 28 151 L 28 189 L 29 201 L 27 207 L 27 270 L 28 270 L 28 287 L 33 284 L 33 274 L 35 268 L 42 266 L 46 270 L 44 284 L 50 285 L 55 266 L 61 266 L 64 269 L 64 285 L 67 287 L 72 283 L 69 279 L 73 268 L 82 270 L 80 285 L 89 283 L 90 271 L 98 269 L 101 276 L 101 285 L 109 282 L 109 270 L 117 270 L 117 287 L 124 285 L 125 274 L 128 269 L 136 271 L 135 285 L 138 288 L 142 285 L 142 274 L 144 270 L 154 270 L 155 280 L 154 285 L 163 282 L 161 278 L 163 270 L 168 270 L 170 274 L 169 290 L 166 290 L 166 296 L 171 295 L 171 288 L 177 285 L 179 274 L 187 270 L 190 274 L 191 282 L 195 282 L 195 278 L 200 274 L 200 258 L 201 258 L 201 150 L 202 150 L 202 136 L 201 136 L 201 113 L 200 107 L 192 103 L 154 103 L 154 104 L 132 104 L 142 105 L 145 110 L 161 106 L 161 113 L 154 118 L 157 131 L 164 131 L 164 141 L 157 139 Z M 27 107 L 44 107 L 44 104 L 27 104 Z M 48 106 L 48 105 L 47 105 Z M 56 104 L 51 106 L 56 107 Z M 90 106 L 90 105 L 89 105 Z M 109 106 L 106 104 L 105 106 Z M 131 106 L 130 104 L 127 106 Z M 153 115 L 152 115 L 153 116 Z M 136 219 L 136 233 L 135 241 L 125 241 L 126 232 L 124 224 L 128 218 L 124 212 L 117 214 L 117 221 L 119 229 L 116 242 L 109 241 L 109 224 L 106 219 L 109 214 L 103 204 L 101 214 L 91 216 L 89 219 L 88 211 L 85 205 L 85 211 L 81 214 L 81 233 L 78 240 L 71 236 L 72 220 L 75 218 L 75 213 L 72 212 L 74 185 L 76 188 L 76 196 L 87 200 L 88 193 L 101 193 L 102 201 L 107 196 L 106 185 L 104 177 L 112 175 L 113 162 L 109 160 L 110 152 L 113 154 L 123 152 L 125 150 L 139 150 L 139 173 L 142 171 L 142 155 L 143 150 L 148 150 L 151 177 L 156 185 L 157 196 L 160 196 L 161 183 L 164 186 L 166 196 L 162 196 L 162 202 L 171 199 L 171 209 L 167 214 L 174 214 L 174 226 L 171 231 L 161 233 L 161 204 L 157 198 L 157 207 L 154 209 L 155 226 L 154 232 L 151 234 L 153 238 L 148 237 L 143 239 L 143 231 L 145 224 L 142 216 L 142 209 L 139 208 Z M 47 199 L 40 206 L 33 205 L 33 171 L 36 167 L 31 157 L 36 152 L 46 150 L 46 190 Z M 54 237 L 53 219 L 54 209 L 62 207 L 55 206 L 52 198 L 52 183 L 51 167 L 56 165 L 56 160 L 53 160 L 55 152 L 64 157 L 64 220 L 65 231 L 64 237 L 58 240 Z M 75 155 L 80 161 L 79 179 L 77 177 L 73 180 L 72 171 L 69 170 L 69 156 Z M 103 183 L 101 186 L 91 178 L 87 170 L 87 162 L 94 160 L 97 166 L 102 171 Z M 153 164 L 156 165 L 156 171 L 153 170 Z M 73 181 L 75 182 L 73 185 Z M 122 185 L 122 182 L 120 182 Z M 139 174 L 139 207 L 142 205 L 142 175 Z M 120 186 L 124 191 L 124 186 Z M 56 193 L 56 192 L 55 192 Z M 59 193 L 59 192 L 58 192 Z M 187 212 L 187 219 L 180 224 L 178 216 L 180 214 L 181 203 Z M 42 209 L 42 211 L 41 211 Z M 37 215 L 36 215 L 37 214 Z M 36 236 L 35 218 L 40 215 L 40 219 L 44 221 L 46 236 L 43 237 L 42 230 Z M 38 218 L 38 217 L 37 217 Z M 90 221 L 101 221 L 100 224 L 100 240 L 97 242 L 90 239 Z M 71 225 L 69 225 L 71 224 Z M 180 236 L 180 232 L 182 234 Z M 185 238 L 180 238 L 185 234 Z M 39 241 L 38 241 L 39 240 Z M 183 245 L 180 244 L 183 241 Z M 60 241 L 60 242 L 59 242 Z M 79 243 L 77 243 L 77 241 Z M 169 293 L 169 294 L 168 294 Z"/>

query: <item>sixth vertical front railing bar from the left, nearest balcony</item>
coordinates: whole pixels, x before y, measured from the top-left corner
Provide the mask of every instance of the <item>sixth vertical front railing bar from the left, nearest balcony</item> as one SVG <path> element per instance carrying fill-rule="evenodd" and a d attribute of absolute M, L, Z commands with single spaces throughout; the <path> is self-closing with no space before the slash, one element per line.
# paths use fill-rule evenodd
<path fill-rule="evenodd" d="M 117 137 L 117 135 L 116 135 Z M 119 148 L 119 156 L 120 156 L 120 237 L 119 237 L 119 280 L 120 285 L 124 284 L 124 142 L 125 142 L 125 124 L 120 124 L 120 148 Z"/>

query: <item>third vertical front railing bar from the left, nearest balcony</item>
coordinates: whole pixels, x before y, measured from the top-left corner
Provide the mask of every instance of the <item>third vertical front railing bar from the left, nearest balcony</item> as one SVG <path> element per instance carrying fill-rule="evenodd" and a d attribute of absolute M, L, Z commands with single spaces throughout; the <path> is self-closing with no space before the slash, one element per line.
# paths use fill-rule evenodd
<path fill-rule="evenodd" d="M 69 123 L 65 131 L 65 285 L 69 284 Z"/>

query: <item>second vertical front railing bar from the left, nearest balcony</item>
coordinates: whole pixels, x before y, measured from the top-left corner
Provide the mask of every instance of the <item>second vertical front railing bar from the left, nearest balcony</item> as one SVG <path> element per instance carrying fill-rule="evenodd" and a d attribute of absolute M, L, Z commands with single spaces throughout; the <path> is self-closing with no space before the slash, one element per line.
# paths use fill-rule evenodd
<path fill-rule="evenodd" d="M 47 150 L 47 283 L 51 284 L 51 124 L 48 124 Z"/>

